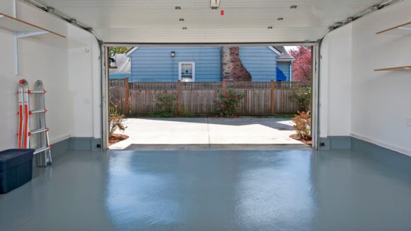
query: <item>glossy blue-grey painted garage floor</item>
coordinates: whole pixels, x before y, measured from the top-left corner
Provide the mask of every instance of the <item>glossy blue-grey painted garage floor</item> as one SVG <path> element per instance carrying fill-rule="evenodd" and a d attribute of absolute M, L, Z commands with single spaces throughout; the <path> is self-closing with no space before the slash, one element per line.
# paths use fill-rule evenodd
<path fill-rule="evenodd" d="M 69 152 L 0 230 L 411 230 L 411 173 L 349 151 Z"/>

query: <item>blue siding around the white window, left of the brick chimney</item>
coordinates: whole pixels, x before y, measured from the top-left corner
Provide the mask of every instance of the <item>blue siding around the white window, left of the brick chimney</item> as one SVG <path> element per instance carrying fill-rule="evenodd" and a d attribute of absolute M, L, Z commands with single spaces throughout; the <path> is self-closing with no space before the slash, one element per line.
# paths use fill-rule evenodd
<path fill-rule="evenodd" d="M 179 62 L 196 62 L 195 81 L 221 81 L 221 47 L 139 47 L 129 57 L 131 81 L 177 81 Z"/>

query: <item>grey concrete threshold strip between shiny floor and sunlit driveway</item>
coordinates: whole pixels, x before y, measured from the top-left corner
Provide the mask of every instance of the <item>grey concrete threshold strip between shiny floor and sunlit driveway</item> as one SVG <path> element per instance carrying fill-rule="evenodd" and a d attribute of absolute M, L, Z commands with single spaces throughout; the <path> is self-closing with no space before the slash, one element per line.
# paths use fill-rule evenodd
<path fill-rule="evenodd" d="M 312 150 L 308 145 L 295 145 L 295 144 L 198 144 L 198 145 L 129 145 L 123 150 L 159 150 L 159 151 L 174 151 L 174 150 Z"/>

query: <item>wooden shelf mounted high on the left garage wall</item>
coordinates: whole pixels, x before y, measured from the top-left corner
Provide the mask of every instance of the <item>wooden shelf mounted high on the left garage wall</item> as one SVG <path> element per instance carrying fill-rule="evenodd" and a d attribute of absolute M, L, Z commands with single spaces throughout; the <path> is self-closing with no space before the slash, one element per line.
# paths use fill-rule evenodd
<path fill-rule="evenodd" d="M 66 38 L 64 35 L 41 28 L 40 26 L 35 26 L 31 23 L 8 16 L 4 13 L 0 13 L 0 28 L 16 33 L 18 38 L 29 36 L 36 38 Z"/>

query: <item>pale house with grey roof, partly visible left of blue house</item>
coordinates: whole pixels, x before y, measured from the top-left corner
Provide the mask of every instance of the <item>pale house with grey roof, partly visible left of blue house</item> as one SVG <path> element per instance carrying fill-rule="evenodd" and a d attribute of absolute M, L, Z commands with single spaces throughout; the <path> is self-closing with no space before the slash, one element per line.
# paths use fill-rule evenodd
<path fill-rule="evenodd" d="M 116 54 L 110 59 L 108 79 L 125 79 L 131 77 L 131 62 L 127 55 Z"/>

